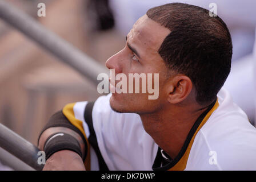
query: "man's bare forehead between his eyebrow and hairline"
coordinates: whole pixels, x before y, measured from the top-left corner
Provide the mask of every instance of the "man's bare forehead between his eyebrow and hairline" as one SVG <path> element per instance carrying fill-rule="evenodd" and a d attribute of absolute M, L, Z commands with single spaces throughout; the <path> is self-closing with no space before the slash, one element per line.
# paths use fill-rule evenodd
<path fill-rule="evenodd" d="M 170 30 L 168 28 L 151 20 L 147 15 L 143 15 L 134 24 L 127 35 L 127 39 L 129 43 L 138 44 L 138 46 L 143 46 L 157 52 L 163 40 L 169 34 Z"/>

